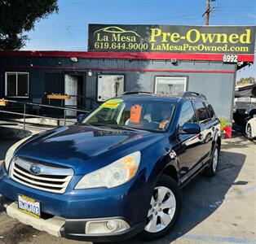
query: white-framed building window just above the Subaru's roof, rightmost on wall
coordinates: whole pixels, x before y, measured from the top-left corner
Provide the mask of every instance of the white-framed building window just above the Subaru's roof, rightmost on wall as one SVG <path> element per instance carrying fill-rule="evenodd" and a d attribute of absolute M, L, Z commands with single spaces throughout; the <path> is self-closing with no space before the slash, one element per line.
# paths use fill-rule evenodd
<path fill-rule="evenodd" d="M 156 94 L 179 94 L 186 90 L 187 77 L 157 76 Z"/>

